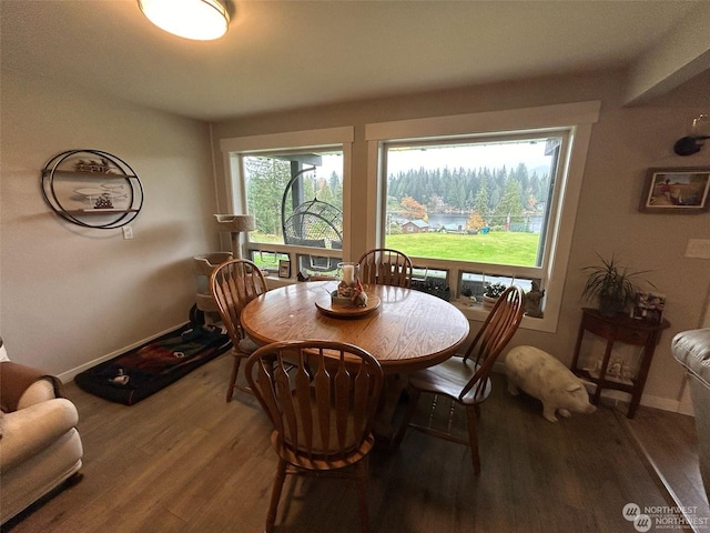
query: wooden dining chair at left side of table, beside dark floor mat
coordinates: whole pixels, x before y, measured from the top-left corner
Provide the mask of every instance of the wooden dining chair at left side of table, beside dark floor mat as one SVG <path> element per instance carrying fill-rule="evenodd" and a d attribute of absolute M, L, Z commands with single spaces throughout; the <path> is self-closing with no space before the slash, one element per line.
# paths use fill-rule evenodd
<path fill-rule="evenodd" d="M 210 276 L 210 292 L 217 304 L 220 316 L 233 344 L 234 364 L 230 388 L 226 391 L 227 402 L 232 401 L 234 389 L 252 392 L 250 388 L 236 384 L 242 360 L 248 358 L 258 348 L 244 332 L 240 313 L 248 302 L 267 290 L 264 274 L 247 259 L 226 261 L 220 264 Z"/>

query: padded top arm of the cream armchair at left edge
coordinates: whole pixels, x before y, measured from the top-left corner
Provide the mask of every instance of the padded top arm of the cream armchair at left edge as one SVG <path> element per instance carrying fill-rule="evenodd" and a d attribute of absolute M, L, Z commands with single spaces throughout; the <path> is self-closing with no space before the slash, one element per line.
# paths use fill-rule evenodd
<path fill-rule="evenodd" d="M 77 408 L 57 398 L 0 418 L 0 471 L 49 446 L 79 422 Z"/>

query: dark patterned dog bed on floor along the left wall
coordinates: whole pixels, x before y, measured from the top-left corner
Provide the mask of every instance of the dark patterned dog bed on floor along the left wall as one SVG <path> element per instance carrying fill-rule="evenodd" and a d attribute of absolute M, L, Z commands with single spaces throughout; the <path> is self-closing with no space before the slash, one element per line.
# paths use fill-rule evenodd
<path fill-rule="evenodd" d="M 232 348 L 220 328 L 185 324 L 74 378 L 77 385 L 111 402 L 133 405 Z"/>

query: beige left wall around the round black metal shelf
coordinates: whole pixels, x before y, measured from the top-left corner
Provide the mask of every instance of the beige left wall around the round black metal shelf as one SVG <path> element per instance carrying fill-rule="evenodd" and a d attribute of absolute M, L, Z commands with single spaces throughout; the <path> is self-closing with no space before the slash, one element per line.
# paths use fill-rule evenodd
<path fill-rule="evenodd" d="M 191 258 L 217 247 L 209 125 L 9 71 L 1 98 L 0 333 L 10 356 L 71 372 L 185 322 Z M 71 224 L 42 200 L 44 163 L 84 148 L 141 178 L 133 240 Z"/>

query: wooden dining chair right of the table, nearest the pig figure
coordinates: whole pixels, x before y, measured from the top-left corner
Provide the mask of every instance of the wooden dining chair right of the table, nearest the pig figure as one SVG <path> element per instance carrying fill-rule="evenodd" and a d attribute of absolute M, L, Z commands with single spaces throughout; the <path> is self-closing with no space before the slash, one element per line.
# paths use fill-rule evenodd
<path fill-rule="evenodd" d="M 509 286 L 488 313 L 488 318 L 464 358 L 454 356 L 440 364 L 409 374 L 407 385 L 409 405 L 395 435 L 395 447 L 402 443 L 407 428 L 414 428 L 435 436 L 469 445 L 474 473 L 476 475 L 480 473 L 476 419 L 480 416 L 480 404 L 490 395 L 493 389 L 489 378 L 490 370 L 520 325 L 524 308 L 525 293 L 523 290 L 518 286 Z M 412 423 L 412 416 L 423 392 L 447 396 L 464 406 L 468 422 L 468 440 L 454 435 L 450 431 Z"/>

